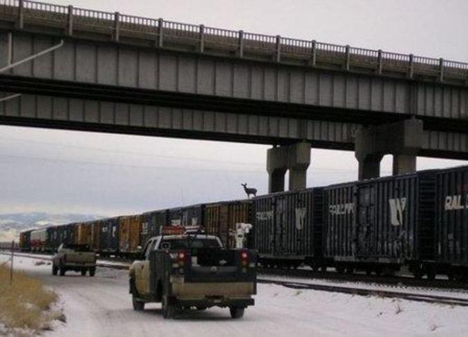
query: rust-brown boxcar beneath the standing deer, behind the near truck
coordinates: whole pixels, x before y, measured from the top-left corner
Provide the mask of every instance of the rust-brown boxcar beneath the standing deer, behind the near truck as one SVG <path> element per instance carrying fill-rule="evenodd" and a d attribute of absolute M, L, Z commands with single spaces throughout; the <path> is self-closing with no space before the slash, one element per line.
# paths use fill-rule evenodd
<path fill-rule="evenodd" d="M 218 235 L 227 248 L 236 246 L 234 240 L 236 224 L 241 222 L 253 224 L 251 200 L 236 200 L 205 205 L 203 215 L 205 231 Z M 249 238 L 250 235 L 247 235 L 247 245 L 250 244 Z"/>

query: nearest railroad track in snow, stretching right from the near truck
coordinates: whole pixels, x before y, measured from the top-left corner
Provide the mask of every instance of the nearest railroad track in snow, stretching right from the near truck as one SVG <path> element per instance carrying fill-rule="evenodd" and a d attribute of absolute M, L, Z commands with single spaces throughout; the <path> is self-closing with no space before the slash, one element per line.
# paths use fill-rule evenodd
<path fill-rule="evenodd" d="M 449 296 L 438 296 L 428 295 L 425 293 L 406 293 L 401 291 L 386 291 L 380 289 L 364 289 L 356 287 L 339 287 L 335 285 L 315 285 L 303 282 L 292 282 L 286 280 L 270 280 L 265 278 L 259 278 L 259 283 L 269 285 L 281 285 L 283 287 L 291 289 L 308 289 L 308 290 L 319 290 L 329 291 L 335 293 L 347 293 L 350 295 L 359 296 L 377 296 L 386 298 L 400 298 L 402 300 L 411 300 L 416 302 L 428 302 L 442 305 L 459 305 L 462 307 L 468 307 L 468 298 L 456 298 Z"/>

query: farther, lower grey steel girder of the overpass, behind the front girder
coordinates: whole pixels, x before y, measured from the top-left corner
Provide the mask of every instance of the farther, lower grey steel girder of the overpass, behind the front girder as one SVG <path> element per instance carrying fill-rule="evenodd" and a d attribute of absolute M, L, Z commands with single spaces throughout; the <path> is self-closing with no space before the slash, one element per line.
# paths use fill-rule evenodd
<path fill-rule="evenodd" d="M 0 93 L 10 97 L 12 93 Z M 0 124 L 354 151 L 362 124 L 22 94 L 0 102 Z M 465 133 L 424 130 L 418 155 L 468 160 Z"/>

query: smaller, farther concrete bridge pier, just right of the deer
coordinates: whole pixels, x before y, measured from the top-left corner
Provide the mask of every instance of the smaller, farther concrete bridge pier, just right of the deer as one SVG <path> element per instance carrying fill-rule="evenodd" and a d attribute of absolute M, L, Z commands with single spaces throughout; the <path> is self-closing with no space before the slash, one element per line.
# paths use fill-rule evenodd
<path fill-rule="evenodd" d="M 309 143 L 301 142 L 268 149 L 268 193 L 284 191 L 284 176 L 288 170 L 289 190 L 305 189 L 309 165 Z"/>

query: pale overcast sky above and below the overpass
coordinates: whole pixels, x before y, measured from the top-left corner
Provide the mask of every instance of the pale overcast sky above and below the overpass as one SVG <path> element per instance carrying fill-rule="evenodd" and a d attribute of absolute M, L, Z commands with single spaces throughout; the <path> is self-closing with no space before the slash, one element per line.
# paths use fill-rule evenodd
<path fill-rule="evenodd" d="M 69 1 L 46 1 L 70 4 Z M 468 61 L 466 0 L 73 1 L 73 6 Z M 0 213 L 120 215 L 266 193 L 268 146 L 0 126 Z M 460 165 L 420 158 L 418 169 Z M 391 157 L 382 174 L 391 173 Z M 308 186 L 354 180 L 352 152 L 312 149 Z"/>

